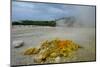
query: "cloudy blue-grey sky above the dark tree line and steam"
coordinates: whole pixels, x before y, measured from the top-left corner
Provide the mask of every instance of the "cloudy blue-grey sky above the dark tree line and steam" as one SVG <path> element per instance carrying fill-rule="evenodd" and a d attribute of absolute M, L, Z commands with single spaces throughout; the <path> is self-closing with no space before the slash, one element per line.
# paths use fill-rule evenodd
<path fill-rule="evenodd" d="M 90 6 L 12 2 L 12 20 L 54 20 L 69 16 L 80 17 L 81 15 L 84 18 L 94 16 L 94 11 L 95 8 Z"/>

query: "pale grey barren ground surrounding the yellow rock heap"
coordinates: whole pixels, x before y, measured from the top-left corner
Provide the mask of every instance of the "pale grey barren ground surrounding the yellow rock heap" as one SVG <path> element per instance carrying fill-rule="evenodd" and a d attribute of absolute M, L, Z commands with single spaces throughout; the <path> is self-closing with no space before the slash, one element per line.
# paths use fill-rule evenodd
<path fill-rule="evenodd" d="M 24 56 L 23 51 L 29 47 L 39 47 L 44 40 L 54 38 L 71 39 L 80 46 L 74 61 L 95 60 L 95 28 L 69 28 L 69 27 L 42 27 L 42 26 L 15 26 L 12 27 L 12 41 L 23 40 L 24 46 L 14 48 L 11 44 L 11 64 L 28 65 L 34 64 L 33 56 Z"/>

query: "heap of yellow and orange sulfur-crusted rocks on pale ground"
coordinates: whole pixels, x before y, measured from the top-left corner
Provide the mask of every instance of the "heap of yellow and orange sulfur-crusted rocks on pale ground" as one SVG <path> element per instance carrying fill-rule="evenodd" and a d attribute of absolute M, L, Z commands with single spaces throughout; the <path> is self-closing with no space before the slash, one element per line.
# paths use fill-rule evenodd
<path fill-rule="evenodd" d="M 38 49 L 27 49 L 24 55 L 34 55 L 35 63 L 57 63 L 58 61 L 63 62 L 62 58 L 64 58 L 65 61 L 65 59 L 70 57 L 78 48 L 80 48 L 80 46 L 72 40 L 46 40 L 42 42 Z"/>

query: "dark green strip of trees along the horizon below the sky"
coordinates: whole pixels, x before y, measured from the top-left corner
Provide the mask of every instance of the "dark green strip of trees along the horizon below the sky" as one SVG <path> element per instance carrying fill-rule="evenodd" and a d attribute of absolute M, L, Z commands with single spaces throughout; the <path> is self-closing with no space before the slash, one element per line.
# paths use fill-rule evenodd
<path fill-rule="evenodd" d="M 39 25 L 39 26 L 56 26 L 55 21 L 32 21 L 32 20 L 23 20 L 23 21 L 13 21 L 12 25 Z"/>

